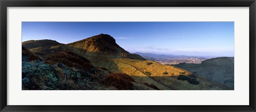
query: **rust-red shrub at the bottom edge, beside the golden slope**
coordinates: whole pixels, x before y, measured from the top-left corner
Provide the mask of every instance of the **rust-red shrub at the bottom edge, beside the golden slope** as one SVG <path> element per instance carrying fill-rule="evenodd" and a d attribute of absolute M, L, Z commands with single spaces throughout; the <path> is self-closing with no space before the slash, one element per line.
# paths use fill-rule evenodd
<path fill-rule="evenodd" d="M 132 90 L 135 82 L 132 77 L 122 73 L 111 73 L 107 75 L 106 81 L 103 82 L 108 86 L 115 86 L 118 90 Z"/>

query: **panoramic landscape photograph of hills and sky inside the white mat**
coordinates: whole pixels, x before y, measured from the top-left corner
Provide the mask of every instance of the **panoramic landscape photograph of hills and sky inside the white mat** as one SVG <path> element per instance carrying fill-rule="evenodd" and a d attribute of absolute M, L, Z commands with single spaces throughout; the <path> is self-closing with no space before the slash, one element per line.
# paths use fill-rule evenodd
<path fill-rule="evenodd" d="M 234 90 L 234 22 L 22 22 L 22 90 Z"/>

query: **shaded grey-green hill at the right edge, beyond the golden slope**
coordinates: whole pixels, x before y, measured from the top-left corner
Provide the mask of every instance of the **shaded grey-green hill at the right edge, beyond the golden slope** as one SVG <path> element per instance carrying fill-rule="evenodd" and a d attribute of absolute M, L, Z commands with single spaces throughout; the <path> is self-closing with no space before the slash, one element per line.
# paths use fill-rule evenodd
<path fill-rule="evenodd" d="M 173 66 L 234 88 L 234 57 L 212 58 L 200 64 L 179 63 Z"/>

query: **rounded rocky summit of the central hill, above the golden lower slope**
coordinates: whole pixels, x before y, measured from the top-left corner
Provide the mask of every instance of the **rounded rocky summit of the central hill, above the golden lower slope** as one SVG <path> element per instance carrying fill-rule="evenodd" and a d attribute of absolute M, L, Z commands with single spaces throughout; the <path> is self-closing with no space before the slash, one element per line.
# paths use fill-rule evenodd
<path fill-rule="evenodd" d="M 116 40 L 108 34 L 99 34 L 81 41 L 66 44 L 71 51 L 85 57 L 98 55 L 105 58 L 129 58 L 146 60 L 138 54 L 131 54 L 125 51 L 116 43 Z"/>

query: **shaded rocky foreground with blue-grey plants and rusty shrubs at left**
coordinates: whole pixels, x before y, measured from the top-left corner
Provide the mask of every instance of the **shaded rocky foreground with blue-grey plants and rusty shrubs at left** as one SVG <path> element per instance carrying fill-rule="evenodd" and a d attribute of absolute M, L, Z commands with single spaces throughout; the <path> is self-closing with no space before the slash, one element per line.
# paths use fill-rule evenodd
<path fill-rule="evenodd" d="M 41 60 L 22 47 L 22 90 L 97 90 L 109 74 L 70 51 L 46 57 Z"/>

